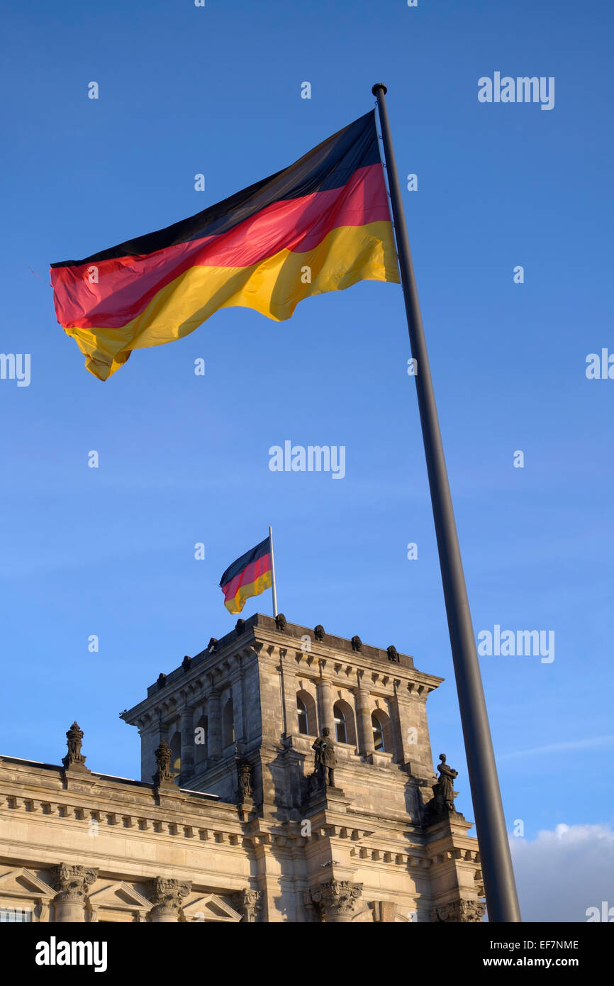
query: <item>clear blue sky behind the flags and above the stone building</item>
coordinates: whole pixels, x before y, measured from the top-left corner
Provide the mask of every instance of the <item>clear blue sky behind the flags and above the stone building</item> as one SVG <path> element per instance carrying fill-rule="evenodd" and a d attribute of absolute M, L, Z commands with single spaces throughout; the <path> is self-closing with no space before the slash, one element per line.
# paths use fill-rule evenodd
<path fill-rule="evenodd" d="M 508 827 L 612 822 L 614 381 L 584 373 L 614 351 L 612 10 L 468 6 L 5 6 L 1 348 L 32 355 L 30 387 L 0 381 L 6 754 L 58 762 L 77 718 L 89 766 L 138 776 L 117 713 L 233 626 L 220 575 L 272 524 L 289 620 L 445 677 L 434 754 L 471 816 L 400 288 L 229 309 L 102 384 L 43 283 L 286 167 L 383 81 L 476 634 L 555 632 L 551 664 L 481 659 Z M 554 108 L 479 103 L 496 71 L 555 77 Z M 345 478 L 271 472 L 286 439 L 345 446 Z"/>

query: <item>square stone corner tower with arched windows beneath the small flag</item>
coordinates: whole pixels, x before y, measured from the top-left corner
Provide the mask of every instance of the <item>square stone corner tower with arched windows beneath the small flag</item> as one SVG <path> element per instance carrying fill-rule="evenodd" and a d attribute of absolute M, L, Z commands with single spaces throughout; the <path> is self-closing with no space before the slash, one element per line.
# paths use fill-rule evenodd
<path fill-rule="evenodd" d="M 175 785 L 238 806 L 260 920 L 475 921 L 477 843 L 433 768 L 426 702 L 442 680 L 392 646 L 256 613 L 122 718 L 142 782 L 164 742 Z M 333 785 L 314 773 L 325 729 Z"/>

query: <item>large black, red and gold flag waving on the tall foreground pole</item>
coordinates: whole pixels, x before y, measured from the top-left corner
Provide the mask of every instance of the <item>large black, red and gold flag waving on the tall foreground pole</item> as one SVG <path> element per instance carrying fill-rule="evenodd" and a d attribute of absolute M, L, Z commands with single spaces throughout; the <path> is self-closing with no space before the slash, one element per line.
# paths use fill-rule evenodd
<path fill-rule="evenodd" d="M 51 264 L 57 319 L 99 380 L 218 309 L 283 320 L 361 280 L 399 280 L 375 110 L 190 219 Z"/>

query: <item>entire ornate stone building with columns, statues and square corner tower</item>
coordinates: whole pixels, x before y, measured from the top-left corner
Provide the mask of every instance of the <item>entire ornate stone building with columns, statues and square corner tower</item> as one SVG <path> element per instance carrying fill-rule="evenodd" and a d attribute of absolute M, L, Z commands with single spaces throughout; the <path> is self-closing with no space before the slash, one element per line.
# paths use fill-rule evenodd
<path fill-rule="evenodd" d="M 140 781 L 86 767 L 77 723 L 61 765 L 0 757 L 0 920 L 480 920 L 477 842 L 433 768 L 441 681 L 239 619 L 121 713 Z"/>

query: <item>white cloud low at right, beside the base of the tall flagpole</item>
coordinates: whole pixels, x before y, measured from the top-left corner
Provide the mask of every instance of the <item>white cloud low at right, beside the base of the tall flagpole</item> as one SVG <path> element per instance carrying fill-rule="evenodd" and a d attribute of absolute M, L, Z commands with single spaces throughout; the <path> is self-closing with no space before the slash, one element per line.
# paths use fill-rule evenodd
<path fill-rule="evenodd" d="M 585 922 L 586 908 L 614 907 L 610 825 L 557 825 L 510 844 L 523 921 Z"/>

